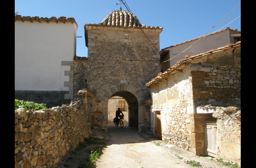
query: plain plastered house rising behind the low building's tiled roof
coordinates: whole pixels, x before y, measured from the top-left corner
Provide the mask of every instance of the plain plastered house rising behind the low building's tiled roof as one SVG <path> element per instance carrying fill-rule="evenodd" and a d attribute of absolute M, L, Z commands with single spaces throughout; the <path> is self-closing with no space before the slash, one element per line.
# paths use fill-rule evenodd
<path fill-rule="evenodd" d="M 197 40 L 199 41 L 195 43 Z M 237 29 L 226 28 L 208 35 L 163 48 L 160 51 L 161 72 L 166 71 L 169 67 L 176 64 L 177 61 L 184 59 L 185 55 L 197 55 L 198 53 L 204 53 L 205 51 L 219 48 L 227 44 L 236 43 L 238 41 L 241 41 L 241 32 Z M 195 43 L 193 47 L 184 51 L 193 43 Z"/>

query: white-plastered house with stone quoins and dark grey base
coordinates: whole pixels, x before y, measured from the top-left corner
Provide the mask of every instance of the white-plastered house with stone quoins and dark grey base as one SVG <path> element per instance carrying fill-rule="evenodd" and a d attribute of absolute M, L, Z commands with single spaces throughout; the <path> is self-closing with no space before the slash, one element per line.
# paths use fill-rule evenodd
<path fill-rule="evenodd" d="M 74 18 L 15 16 L 15 98 L 47 107 L 73 100 Z M 77 92 L 76 92 L 77 93 Z"/>

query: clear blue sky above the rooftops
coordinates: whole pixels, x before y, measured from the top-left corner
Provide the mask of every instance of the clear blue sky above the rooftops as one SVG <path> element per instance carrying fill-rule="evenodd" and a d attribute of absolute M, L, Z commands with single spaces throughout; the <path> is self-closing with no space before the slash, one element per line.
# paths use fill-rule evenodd
<path fill-rule="evenodd" d="M 142 24 L 164 28 L 160 34 L 160 49 L 204 35 L 240 2 L 240 0 L 126 0 L 131 12 L 137 16 Z M 65 16 L 75 18 L 78 24 L 77 36 L 82 36 L 82 38 L 77 38 L 77 56 L 87 57 L 83 25 L 85 23 L 100 23 L 111 11 L 119 10 L 120 5 L 116 5 L 116 3 L 120 2 L 118 0 L 15 0 L 15 12 L 18 11 L 18 15 L 31 17 L 50 18 L 55 16 L 58 18 Z M 124 5 L 122 5 L 122 10 L 126 10 Z M 240 10 L 241 4 L 209 33 Z M 241 11 L 221 27 L 240 15 Z M 241 17 L 222 29 L 226 27 L 241 31 Z"/>

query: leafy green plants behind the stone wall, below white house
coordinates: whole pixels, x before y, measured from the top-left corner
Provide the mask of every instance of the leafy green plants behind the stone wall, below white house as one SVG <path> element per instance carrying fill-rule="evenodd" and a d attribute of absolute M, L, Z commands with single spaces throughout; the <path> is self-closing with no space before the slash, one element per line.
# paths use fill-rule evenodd
<path fill-rule="evenodd" d="M 40 110 L 40 109 L 46 109 L 46 104 L 38 104 L 33 101 L 24 101 L 24 100 L 14 100 L 14 110 L 17 110 L 18 108 L 25 108 L 26 110 Z"/>

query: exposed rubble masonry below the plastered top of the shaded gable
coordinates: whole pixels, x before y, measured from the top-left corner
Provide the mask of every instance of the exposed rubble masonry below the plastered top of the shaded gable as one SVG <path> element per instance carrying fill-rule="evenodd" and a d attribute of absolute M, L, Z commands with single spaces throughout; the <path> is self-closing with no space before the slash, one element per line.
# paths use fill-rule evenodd
<path fill-rule="evenodd" d="M 195 105 L 241 108 L 241 68 L 198 68 L 191 75 Z"/>

